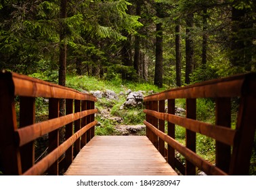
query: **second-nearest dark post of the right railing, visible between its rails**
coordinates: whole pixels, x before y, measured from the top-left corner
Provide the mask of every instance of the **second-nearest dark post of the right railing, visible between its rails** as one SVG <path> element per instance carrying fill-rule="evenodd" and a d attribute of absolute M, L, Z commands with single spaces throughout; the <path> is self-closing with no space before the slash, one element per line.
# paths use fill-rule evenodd
<path fill-rule="evenodd" d="M 215 124 L 217 126 L 231 127 L 231 103 L 229 98 L 216 99 Z M 231 147 L 216 141 L 216 167 L 226 173 L 230 169 Z"/>

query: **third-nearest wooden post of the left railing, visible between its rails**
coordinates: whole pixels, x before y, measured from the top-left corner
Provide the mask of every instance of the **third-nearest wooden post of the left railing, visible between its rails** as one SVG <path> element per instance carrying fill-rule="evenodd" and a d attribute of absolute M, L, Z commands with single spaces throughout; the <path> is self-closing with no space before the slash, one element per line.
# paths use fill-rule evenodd
<path fill-rule="evenodd" d="M 60 102 L 59 99 L 49 99 L 49 119 L 54 119 L 59 117 L 59 110 L 60 110 Z M 59 146 L 59 138 L 60 132 L 59 130 L 54 130 L 53 132 L 49 133 L 49 148 L 48 152 L 54 151 Z M 48 169 L 49 175 L 58 175 L 59 173 L 59 166 L 58 161 L 56 161 L 51 167 Z"/>

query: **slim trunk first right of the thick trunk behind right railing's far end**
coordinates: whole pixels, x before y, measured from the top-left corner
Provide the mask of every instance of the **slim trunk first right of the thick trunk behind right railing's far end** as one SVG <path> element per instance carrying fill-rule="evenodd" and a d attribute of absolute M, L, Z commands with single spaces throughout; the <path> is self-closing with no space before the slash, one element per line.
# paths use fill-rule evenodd
<path fill-rule="evenodd" d="M 175 27 L 176 84 L 182 86 L 182 53 L 180 51 L 180 25 Z"/>

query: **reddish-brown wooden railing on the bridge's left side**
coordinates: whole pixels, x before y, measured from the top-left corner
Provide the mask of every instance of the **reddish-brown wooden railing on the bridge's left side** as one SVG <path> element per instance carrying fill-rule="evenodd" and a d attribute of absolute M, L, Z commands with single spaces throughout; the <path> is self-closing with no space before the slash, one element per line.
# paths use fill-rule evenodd
<path fill-rule="evenodd" d="M 35 123 L 35 99 L 49 99 L 49 119 Z M 19 101 L 17 100 L 19 99 Z M 60 101 L 66 115 L 60 117 Z M 15 103 L 20 119 L 17 123 Z M 5 175 L 58 175 L 94 136 L 95 97 L 11 72 L 0 73 L 0 162 Z M 60 128 L 65 140 L 60 144 Z M 47 156 L 35 163 L 35 140 L 48 135 Z"/>

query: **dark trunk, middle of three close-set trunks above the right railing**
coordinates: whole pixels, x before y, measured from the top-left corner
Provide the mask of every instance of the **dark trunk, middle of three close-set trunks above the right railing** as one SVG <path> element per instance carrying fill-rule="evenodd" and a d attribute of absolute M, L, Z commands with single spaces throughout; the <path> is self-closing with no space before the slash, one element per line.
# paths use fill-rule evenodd
<path fill-rule="evenodd" d="M 194 64 L 194 44 L 191 29 L 194 26 L 194 14 L 188 14 L 186 18 L 186 78 L 185 83 L 190 84 L 190 74 L 192 74 Z"/>

